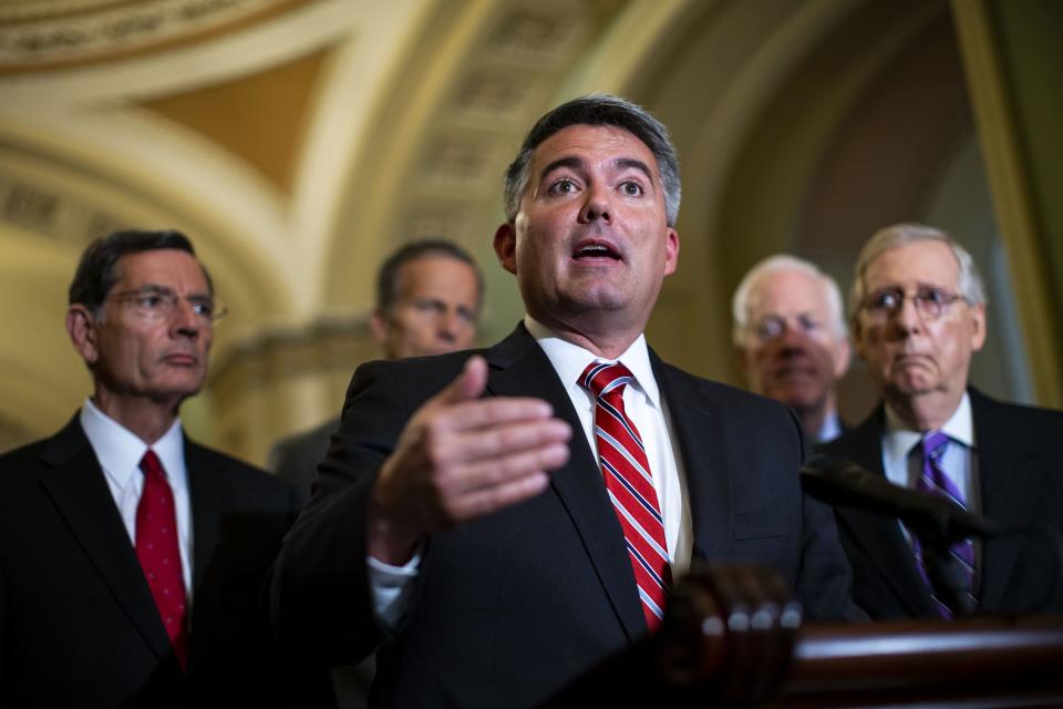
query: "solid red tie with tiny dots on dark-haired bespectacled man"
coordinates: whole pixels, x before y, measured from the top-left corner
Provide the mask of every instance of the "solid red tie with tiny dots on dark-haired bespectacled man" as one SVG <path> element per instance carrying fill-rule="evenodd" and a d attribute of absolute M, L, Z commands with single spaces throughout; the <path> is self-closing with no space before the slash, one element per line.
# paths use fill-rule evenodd
<path fill-rule="evenodd" d="M 144 491 L 136 506 L 136 557 L 141 561 L 174 654 L 182 668 L 187 669 L 185 582 L 180 573 L 174 493 L 154 451 L 144 453 L 141 470 L 144 471 Z"/>

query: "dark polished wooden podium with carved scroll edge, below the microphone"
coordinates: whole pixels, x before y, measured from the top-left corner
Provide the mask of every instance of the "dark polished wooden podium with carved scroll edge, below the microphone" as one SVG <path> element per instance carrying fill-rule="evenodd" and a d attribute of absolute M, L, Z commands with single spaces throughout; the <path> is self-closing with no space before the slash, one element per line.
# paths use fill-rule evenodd
<path fill-rule="evenodd" d="M 674 589 L 664 626 L 547 707 L 1063 707 L 1063 618 L 803 624 L 774 574 Z"/>

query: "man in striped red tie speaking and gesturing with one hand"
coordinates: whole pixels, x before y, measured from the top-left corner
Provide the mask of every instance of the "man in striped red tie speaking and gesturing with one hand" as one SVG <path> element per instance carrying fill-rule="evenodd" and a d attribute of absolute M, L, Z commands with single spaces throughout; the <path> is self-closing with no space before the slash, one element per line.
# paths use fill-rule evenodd
<path fill-rule="evenodd" d="M 809 615 L 842 613 L 801 423 L 646 343 L 679 198 L 634 104 L 586 96 L 532 129 L 495 234 L 527 316 L 482 352 L 354 373 L 274 569 L 293 653 L 379 650 L 379 706 L 527 707 L 656 629 L 691 557 L 768 565 Z"/>

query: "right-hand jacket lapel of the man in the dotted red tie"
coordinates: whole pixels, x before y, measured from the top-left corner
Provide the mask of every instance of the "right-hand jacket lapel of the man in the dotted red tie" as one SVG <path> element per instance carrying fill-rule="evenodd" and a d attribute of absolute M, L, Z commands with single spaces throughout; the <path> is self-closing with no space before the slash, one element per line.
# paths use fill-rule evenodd
<path fill-rule="evenodd" d="M 206 449 L 185 439 L 194 548 L 190 670 L 195 669 L 203 648 L 210 641 L 210 631 L 221 602 L 221 577 L 226 566 L 226 549 L 219 540 L 228 487 L 215 463 L 216 459 Z"/>

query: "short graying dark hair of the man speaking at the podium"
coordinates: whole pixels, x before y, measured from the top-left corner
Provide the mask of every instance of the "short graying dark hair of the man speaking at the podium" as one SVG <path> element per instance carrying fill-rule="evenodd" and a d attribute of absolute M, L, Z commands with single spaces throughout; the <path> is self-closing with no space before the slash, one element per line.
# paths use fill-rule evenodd
<path fill-rule="evenodd" d="M 682 184 L 679 179 L 679 158 L 675 146 L 664 124 L 642 106 L 608 94 L 588 94 L 557 106 L 532 126 L 524 138 L 520 152 L 506 169 L 506 187 L 503 202 L 506 219 L 510 223 L 520 210 L 520 196 L 528 185 L 528 168 L 532 154 L 543 141 L 570 125 L 608 125 L 631 133 L 642 141 L 653 157 L 664 187 L 664 213 L 669 226 L 679 218 L 679 202 Z"/>

